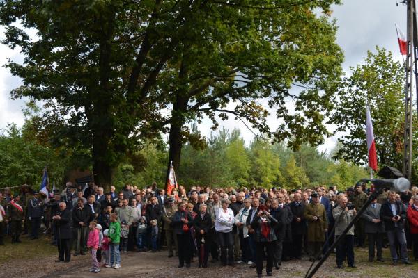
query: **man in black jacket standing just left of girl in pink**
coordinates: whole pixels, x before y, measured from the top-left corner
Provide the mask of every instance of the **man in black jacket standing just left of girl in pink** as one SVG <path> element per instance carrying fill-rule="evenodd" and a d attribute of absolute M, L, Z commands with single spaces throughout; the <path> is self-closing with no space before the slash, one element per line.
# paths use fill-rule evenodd
<path fill-rule="evenodd" d="M 84 206 L 83 199 L 77 200 L 77 207 L 72 209 L 72 227 L 74 227 L 74 256 L 84 255 L 88 239 L 88 221 L 91 219 L 91 212 Z"/>

